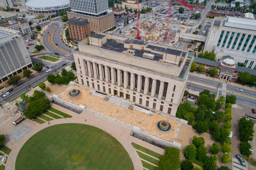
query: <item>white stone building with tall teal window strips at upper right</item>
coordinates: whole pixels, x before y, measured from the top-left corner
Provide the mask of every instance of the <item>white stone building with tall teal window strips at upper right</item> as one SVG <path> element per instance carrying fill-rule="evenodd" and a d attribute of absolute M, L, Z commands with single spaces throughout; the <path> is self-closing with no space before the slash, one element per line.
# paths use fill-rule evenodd
<path fill-rule="evenodd" d="M 256 69 L 256 20 L 240 17 L 215 17 L 204 52 L 215 58 L 229 55 L 249 69 Z"/>

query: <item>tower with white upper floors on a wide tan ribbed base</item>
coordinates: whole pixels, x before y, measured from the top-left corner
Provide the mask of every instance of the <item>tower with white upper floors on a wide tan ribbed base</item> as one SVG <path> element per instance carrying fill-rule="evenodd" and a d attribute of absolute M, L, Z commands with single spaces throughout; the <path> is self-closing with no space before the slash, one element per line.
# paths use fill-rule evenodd
<path fill-rule="evenodd" d="M 103 32 L 115 26 L 114 12 L 108 9 L 108 0 L 70 0 L 67 17 L 81 17 L 90 23 L 93 32 Z"/>

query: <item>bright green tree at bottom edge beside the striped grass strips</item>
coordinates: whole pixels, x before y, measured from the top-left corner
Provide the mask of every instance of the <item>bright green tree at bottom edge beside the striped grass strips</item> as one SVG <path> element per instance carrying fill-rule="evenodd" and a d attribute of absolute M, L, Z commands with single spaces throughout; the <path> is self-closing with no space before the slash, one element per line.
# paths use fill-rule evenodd
<path fill-rule="evenodd" d="M 167 147 L 164 156 L 160 157 L 156 170 L 178 170 L 179 168 L 180 150 L 176 147 Z"/>

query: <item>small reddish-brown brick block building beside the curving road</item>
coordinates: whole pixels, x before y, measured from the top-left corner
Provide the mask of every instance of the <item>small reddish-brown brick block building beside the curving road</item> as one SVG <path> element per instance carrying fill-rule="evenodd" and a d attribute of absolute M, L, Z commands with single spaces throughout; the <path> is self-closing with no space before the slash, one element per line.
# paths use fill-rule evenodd
<path fill-rule="evenodd" d="M 70 38 L 73 40 L 83 40 L 90 36 L 90 23 L 84 18 L 70 18 L 67 23 Z"/>

